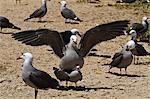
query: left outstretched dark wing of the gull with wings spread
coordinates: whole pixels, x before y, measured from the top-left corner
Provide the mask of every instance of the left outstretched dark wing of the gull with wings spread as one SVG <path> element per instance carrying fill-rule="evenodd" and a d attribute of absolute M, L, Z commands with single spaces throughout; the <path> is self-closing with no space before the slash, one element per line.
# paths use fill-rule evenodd
<path fill-rule="evenodd" d="M 60 58 L 63 57 L 64 43 L 60 33 L 49 29 L 27 30 L 12 34 L 15 40 L 21 41 L 26 45 L 40 46 L 49 45 L 55 54 Z"/>

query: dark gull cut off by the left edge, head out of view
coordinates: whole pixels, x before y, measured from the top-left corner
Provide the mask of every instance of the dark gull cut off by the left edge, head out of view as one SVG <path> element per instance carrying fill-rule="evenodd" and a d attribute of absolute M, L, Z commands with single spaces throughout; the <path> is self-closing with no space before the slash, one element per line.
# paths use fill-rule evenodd
<path fill-rule="evenodd" d="M 12 28 L 12 29 L 21 30 L 21 28 L 12 24 L 11 22 L 9 22 L 9 20 L 6 17 L 3 17 L 3 16 L 0 16 L 0 28 L 1 28 L 1 31 L 3 28 Z"/>

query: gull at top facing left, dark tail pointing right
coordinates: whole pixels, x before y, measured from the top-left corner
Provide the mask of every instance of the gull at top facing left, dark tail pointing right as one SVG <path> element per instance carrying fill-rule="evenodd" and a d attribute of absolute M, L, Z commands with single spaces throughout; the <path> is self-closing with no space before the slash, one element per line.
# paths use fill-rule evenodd
<path fill-rule="evenodd" d="M 67 6 L 66 1 L 61 1 L 60 4 L 61 4 L 60 6 L 61 15 L 65 18 L 65 23 L 68 23 L 67 20 L 75 20 L 79 22 L 83 21 L 79 17 L 77 17 L 76 14 L 71 9 L 66 7 Z"/>

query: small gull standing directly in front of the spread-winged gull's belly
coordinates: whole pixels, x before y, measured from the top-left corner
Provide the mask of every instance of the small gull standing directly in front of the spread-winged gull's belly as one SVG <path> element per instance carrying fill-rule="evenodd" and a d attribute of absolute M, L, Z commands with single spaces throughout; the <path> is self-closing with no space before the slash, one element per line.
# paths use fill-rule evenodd
<path fill-rule="evenodd" d="M 68 81 L 74 82 L 77 87 L 77 82 L 82 80 L 82 73 L 80 71 L 80 66 L 76 66 L 75 70 L 70 72 L 64 71 L 61 68 L 53 67 L 54 74 L 60 81 L 66 81 L 66 86 Z"/>

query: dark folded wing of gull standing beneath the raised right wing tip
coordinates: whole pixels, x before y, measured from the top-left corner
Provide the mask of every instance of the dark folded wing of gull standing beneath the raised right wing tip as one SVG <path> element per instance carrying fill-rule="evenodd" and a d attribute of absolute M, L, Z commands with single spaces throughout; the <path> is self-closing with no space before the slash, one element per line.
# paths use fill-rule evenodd
<path fill-rule="evenodd" d="M 123 54 L 122 53 L 116 53 L 114 55 L 114 57 L 112 58 L 113 61 L 110 63 L 110 65 L 111 66 L 117 66 L 121 62 L 122 58 L 123 58 Z"/>

